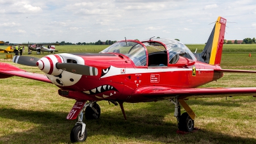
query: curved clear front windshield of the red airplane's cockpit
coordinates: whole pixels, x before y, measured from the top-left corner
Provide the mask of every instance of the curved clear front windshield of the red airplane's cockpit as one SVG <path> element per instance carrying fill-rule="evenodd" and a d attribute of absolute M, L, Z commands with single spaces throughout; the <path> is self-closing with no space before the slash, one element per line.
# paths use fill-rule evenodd
<path fill-rule="evenodd" d="M 147 65 L 145 47 L 137 42 L 116 42 L 100 53 L 115 52 L 128 56 L 136 66 Z"/>

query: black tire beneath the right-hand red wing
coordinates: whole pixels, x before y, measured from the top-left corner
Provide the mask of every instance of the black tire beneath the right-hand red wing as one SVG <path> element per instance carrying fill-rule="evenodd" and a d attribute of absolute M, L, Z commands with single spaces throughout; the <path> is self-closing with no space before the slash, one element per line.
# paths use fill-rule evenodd
<path fill-rule="evenodd" d="M 194 120 L 188 115 L 188 113 L 182 113 L 179 118 L 179 130 L 191 132 L 194 129 Z"/>

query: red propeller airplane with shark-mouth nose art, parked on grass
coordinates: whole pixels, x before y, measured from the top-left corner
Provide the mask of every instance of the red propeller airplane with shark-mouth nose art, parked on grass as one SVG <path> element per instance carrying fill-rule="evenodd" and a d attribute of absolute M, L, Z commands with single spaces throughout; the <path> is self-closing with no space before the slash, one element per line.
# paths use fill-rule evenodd
<path fill-rule="evenodd" d="M 124 102 L 170 100 L 180 131 L 193 131 L 195 113 L 185 100 L 203 97 L 256 95 L 256 88 L 196 88 L 223 77 L 223 72 L 247 70 L 221 69 L 221 52 L 227 20 L 218 17 L 204 51 L 193 54 L 186 45 L 168 38 L 122 40 L 100 53 L 63 53 L 33 58 L 15 56 L 14 63 L 38 67 L 45 75 L 26 72 L 0 63 L 0 78 L 25 77 L 60 88 L 59 95 L 76 99 L 67 115 L 78 122 L 70 132 L 72 142 L 87 138 L 86 119 L 100 117 L 99 100 L 120 105 Z M 186 110 L 180 113 L 180 105 Z"/>

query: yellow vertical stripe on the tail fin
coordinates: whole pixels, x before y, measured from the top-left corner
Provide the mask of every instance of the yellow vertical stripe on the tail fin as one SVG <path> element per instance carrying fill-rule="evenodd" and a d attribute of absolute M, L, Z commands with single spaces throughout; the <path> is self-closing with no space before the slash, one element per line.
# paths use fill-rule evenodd
<path fill-rule="evenodd" d="M 219 42 L 219 36 L 220 36 L 220 17 L 218 17 L 217 22 L 215 24 L 215 31 L 214 31 L 214 37 L 212 42 L 212 51 L 211 51 L 211 58 L 209 64 L 214 65 L 215 64 L 215 58 L 218 48 L 218 42 Z"/>

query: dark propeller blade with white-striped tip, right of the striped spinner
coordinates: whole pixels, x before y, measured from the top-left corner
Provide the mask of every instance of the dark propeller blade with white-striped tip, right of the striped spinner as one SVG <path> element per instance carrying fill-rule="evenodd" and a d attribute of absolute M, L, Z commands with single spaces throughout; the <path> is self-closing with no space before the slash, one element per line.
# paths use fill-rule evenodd
<path fill-rule="evenodd" d="M 76 63 L 56 63 L 56 68 L 84 76 L 98 75 L 98 68 L 90 67 L 87 65 L 79 65 Z"/>

